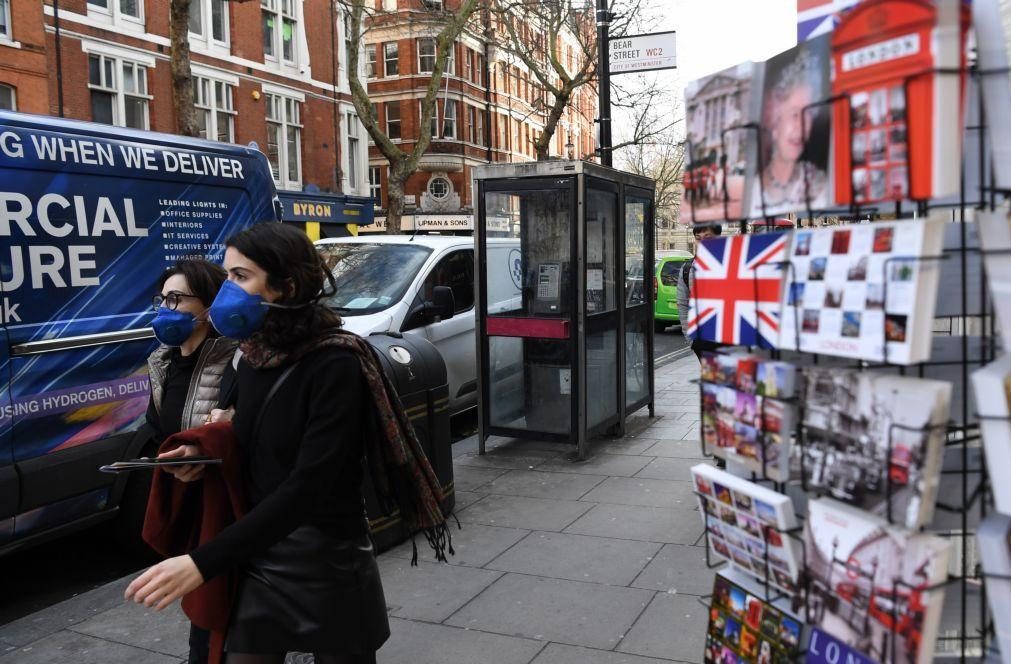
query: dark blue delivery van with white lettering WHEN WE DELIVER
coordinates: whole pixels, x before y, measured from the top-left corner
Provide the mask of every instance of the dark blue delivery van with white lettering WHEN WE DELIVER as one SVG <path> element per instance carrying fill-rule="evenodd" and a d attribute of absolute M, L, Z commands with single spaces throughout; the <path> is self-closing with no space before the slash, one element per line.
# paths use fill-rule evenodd
<path fill-rule="evenodd" d="M 149 478 L 98 468 L 151 452 L 134 433 L 157 278 L 268 220 L 255 148 L 0 112 L 0 554 L 139 527 Z"/>

